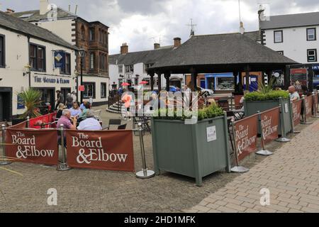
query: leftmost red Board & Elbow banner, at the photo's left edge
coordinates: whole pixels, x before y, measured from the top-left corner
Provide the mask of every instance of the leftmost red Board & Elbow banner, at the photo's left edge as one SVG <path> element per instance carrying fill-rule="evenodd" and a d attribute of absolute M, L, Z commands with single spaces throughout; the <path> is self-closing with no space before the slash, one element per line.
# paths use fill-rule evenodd
<path fill-rule="evenodd" d="M 18 162 L 57 165 L 59 150 L 55 130 L 6 130 L 6 155 Z"/>

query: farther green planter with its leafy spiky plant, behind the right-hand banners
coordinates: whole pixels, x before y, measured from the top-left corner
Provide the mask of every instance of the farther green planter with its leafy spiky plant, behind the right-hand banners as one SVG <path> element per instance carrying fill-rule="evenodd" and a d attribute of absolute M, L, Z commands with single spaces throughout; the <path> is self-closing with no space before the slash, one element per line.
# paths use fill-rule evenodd
<path fill-rule="evenodd" d="M 267 111 L 281 105 L 281 123 L 279 127 L 283 127 L 284 136 L 286 136 L 286 133 L 289 133 L 292 129 L 289 92 L 273 90 L 272 84 L 273 81 L 268 86 L 260 83 L 257 92 L 245 94 L 245 116 L 252 116 L 253 114 L 257 114 L 257 111 Z"/>

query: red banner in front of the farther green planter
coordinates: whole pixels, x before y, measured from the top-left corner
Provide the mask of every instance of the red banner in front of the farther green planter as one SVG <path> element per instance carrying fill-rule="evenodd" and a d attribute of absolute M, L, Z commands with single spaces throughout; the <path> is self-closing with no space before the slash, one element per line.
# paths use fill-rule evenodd
<path fill-rule="evenodd" d="M 264 111 L 261 116 L 262 126 L 262 140 L 264 143 L 270 143 L 272 140 L 278 138 L 279 118 L 280 111 L 279 107 Z"/>

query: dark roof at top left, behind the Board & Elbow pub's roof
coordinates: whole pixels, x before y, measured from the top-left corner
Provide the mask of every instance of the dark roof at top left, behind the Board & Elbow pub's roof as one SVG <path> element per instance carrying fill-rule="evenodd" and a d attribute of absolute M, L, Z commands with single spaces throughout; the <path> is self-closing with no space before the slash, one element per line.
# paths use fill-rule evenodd
<path fill-rule="evenodd" d="M 47 12 L 49 13 L 49 12 Z M 47 13 L 40 15 L 40 10 L 22 11 L 17 13 L 10 13 L 11 16 L 23 19 L 23 21 L 34 22 L 40 20 L 47 20 Z M 57 18 L 73 18 L 77 17 L 75 14 L 65 11 L 64 9 L 57 8 Z"/>

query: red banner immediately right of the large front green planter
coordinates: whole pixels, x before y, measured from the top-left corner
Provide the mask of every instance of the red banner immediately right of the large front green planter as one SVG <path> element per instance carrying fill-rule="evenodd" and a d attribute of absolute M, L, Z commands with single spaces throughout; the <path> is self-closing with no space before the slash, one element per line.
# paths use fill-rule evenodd
<path fill-rule="evenodd" d="M 235 122 L 235 143 L 238 160 L 257 150 L 258 114 Z"/>

